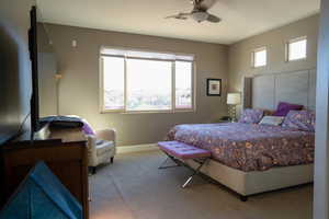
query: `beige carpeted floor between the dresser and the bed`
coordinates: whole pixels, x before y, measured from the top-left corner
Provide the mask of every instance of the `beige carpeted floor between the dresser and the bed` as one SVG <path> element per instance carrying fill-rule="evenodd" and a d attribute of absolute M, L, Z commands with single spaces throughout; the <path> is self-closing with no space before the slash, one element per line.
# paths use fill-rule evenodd
<path fill-rule="evenodd" d="M 158 170 L 158 151 L 115 157 L 90 176 L 91 219 L 308 219 L 313 186 L 306 185 L 249 198 L 247 203 L 220 185 L 196 178 L 180 185 L 185 168 Z"/>

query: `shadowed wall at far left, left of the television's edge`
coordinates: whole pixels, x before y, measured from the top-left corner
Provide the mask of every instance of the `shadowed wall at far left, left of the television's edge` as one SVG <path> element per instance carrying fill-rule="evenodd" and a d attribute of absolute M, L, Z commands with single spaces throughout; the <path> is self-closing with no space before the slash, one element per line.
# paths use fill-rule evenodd
<path fill-rule="evenodd" d="M 9 2 L 0 1 L 0 145 L 30 130 L 31 120 L 29 16 L 19 13 L 16 2 Z"/>

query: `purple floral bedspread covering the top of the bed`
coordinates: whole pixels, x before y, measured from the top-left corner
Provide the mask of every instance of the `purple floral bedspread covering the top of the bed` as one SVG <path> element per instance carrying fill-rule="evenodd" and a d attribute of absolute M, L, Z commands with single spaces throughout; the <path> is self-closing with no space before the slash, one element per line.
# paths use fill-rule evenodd
<path fill-rule="evenodd" d="M 213 159 L 245 172 L 314 162 L 315 134 L 281 126 L 178 125 L 168 132 L 166 140 L 207 149 Z"/>

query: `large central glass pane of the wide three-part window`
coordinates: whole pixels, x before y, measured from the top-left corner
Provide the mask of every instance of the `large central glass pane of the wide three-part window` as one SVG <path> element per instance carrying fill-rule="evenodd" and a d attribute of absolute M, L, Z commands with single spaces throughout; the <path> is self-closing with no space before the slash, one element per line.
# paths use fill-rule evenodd
<path fill-rule="evenodd" d="M 171 62 L 127 60 L 127 111 L 171 110 Z"/>

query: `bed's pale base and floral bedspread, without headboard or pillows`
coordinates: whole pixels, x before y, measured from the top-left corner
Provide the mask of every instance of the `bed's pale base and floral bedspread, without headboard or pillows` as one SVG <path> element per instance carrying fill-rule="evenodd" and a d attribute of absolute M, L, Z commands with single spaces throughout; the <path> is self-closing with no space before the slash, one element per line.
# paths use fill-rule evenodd
<path fill-rule="evenodd" d="M 239 123 L 178 125 L 167 137 L 209 150 L 202 172 L 242 196 L 311 182 L 314 139 L 314 132 Z"/>

